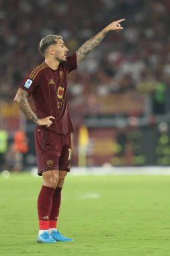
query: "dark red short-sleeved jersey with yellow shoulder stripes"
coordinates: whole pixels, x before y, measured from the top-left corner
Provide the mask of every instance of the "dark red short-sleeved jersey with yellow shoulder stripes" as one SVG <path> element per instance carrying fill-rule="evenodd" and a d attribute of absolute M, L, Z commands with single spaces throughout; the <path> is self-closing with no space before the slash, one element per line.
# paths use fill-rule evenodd
<path fill-rule="evenodd" d="M 60 63 L 57 70 L 43 62 L 29 73 L 20 86 L 29 96 L 32 94 L 38 118 L 55 118 L 46 129 L 62 135 L 75 131 L 67 99 L 67 77 L 73 69 L 77 69 L 76 54 L 67 57 L 67 61 Z"/>

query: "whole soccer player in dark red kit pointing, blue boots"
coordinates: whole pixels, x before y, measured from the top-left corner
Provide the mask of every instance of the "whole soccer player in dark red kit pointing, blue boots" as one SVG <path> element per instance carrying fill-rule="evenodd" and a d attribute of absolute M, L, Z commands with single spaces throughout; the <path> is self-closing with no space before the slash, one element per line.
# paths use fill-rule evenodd
<path fill-rule="evenodd" d="M 112 22 L 87 40 L 75 54 L 67 57 L 68 49 L 61 36 L 48 35 L 40 41 L 44 62 L 28 74 L 19 87 L 15 102 L 26 117 L 36 123 L 35 145 L 38 175 L 43 184 L 38 196 L 38 242 L 73 241 L 60 234 L 56 222 L 60 209 L 61 190 L 71 165 L 71 121 L 67 100 L 67 76 L 90 53 L 110 30 L 119 32 L 125 19 Z M 28 103 L 32 95 L 36 113 Z"/>

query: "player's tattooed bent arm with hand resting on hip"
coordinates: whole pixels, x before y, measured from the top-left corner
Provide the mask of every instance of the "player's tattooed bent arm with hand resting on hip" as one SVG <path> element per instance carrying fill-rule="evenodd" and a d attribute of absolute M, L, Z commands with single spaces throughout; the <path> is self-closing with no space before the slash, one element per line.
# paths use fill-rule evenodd
<path fill-rule="evenodd" d="M 30 104 L 27 98 L 28 98 L 28 93 L 22 90 L 21 88 L 19 88 L 14 100 L 28 119 L 30 119 L 37 125 L 40 125 L 40 126 L 45 125 L 46 127 L 50 127 L 50 125 L 52 124 L 52 121 L 50 119 L 54 119 L 54 117 L 49 116 L 44 119 L 38 119 L 36 114 L 32 111 L 32 108 L 30 107 Z"/>

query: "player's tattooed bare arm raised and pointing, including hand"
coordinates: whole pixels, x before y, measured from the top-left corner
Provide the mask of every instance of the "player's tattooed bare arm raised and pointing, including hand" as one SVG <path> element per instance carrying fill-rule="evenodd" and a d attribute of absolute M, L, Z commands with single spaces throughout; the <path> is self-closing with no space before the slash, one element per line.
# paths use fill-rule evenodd
<path fill-rule="evenodd" d="M 103 40 L 105 35 L 109 31 L 119 32 L 122 30 L 122 26 L 120 26 L 120 22 L 123 22 L 125 19 L 117 20 L 116 22 L 112 22 L 107 27 L 105 27 L 101 32 L 93 36 L 91 39 L 87 40 L 76 52 L 77 56 L 77 65 L 85 58 L 85 56 L 90 53 L 100 42 Z"/>

